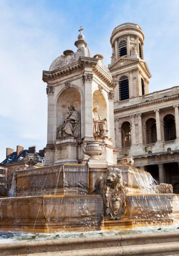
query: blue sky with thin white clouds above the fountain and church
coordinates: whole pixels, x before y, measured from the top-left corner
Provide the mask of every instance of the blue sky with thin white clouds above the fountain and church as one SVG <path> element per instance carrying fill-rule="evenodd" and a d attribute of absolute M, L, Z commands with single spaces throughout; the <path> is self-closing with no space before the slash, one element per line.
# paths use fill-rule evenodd
<path fill-rule="evenodd" d="M 123 23 L 139 24 L 149 92 L 179 85 L 178 0 L 0 0 L 0 162 L 16 151 L 47 143 L 47 84 L 42 71 L 83 34 L 92 55 L 110 63 L 110 35 Z"/>

